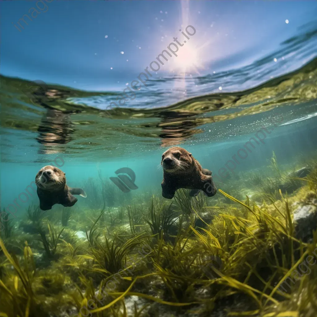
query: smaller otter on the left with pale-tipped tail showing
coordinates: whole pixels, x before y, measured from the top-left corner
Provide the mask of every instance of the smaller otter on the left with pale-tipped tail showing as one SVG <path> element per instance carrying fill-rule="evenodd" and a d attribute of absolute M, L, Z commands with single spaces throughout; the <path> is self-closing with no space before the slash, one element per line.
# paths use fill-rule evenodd
<path fill-rule="evenodd" d="M 73 195 L 87 197 L 81 188 L 68 187 L 65 173 L 55 166 L 42 167 L 36 174 L 35 183 L 42 210 L 49 210 L 55 204 L 74 206 L 78 199 Z"/>

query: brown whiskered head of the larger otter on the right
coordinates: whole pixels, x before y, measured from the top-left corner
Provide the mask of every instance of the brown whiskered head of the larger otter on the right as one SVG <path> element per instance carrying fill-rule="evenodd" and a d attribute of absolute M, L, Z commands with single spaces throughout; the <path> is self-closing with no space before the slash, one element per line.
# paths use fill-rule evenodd
<path fill-rule="evenodd" d="M 174 173 L 188 170 L 193 162 L 191 153 L 179 146 L 173 146 L 162 155 L 161 165 L 164 171 Z"/>

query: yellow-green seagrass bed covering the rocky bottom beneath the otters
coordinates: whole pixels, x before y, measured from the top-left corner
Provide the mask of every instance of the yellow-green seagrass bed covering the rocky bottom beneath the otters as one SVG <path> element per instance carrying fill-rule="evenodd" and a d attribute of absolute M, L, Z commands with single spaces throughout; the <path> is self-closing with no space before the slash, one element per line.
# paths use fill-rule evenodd
<path fill-rule="evenodd" d="M 299 178 L 280 171 L 275 155 L 271 163 L 274 176 L 240 176 L 258 189 L 246 196 L 240 178 L 213 198 L 180 190 L 172 204 L 144 195 L 76 215 L 30 207 L 25 232 L 4 222 L 0 316 L 316 316 L 316 265 L 280 286 L 315 257 L 316 223 L 301 240 L 307 227 L 294 212 L 316 213 L 317 164 Z M 114 277 L 115 289 L 101 294 Z"/>

